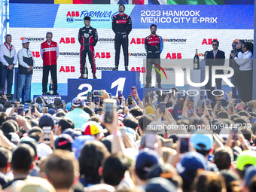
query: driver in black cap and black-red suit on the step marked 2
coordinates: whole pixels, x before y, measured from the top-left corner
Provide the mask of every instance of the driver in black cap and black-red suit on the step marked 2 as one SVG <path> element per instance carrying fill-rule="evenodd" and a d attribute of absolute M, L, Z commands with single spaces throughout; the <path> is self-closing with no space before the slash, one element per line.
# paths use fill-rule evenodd
<path fill-rule="evenodd" d="M 80 78 L 84 78 L 85 59 L 88 53 L 93 78 L 96 79 L 96 64 L 94 59 L 94 46 L 98 41 L 97 30 L 90 26 L 90 17 L 84 17 L 84 27 L 79 29 L 78 41 L 80 48 Z M 88 71 L 87 71 L 88 72 Z"/>

